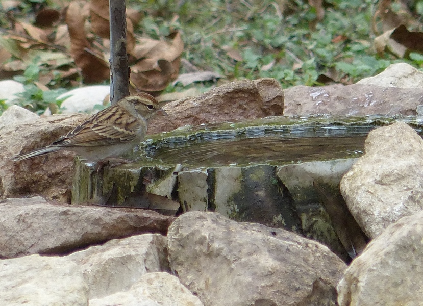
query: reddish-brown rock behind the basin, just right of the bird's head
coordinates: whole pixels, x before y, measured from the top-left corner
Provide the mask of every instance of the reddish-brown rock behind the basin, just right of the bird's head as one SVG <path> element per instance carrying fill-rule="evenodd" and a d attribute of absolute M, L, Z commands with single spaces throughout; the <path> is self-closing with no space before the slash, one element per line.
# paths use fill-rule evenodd
<path fill-rule="evenodd" d="M 187 124 L 282 115 L 283 90 L 275 79 L 243 80 L 219 86 L 198 97 L 171 102 L 163 109 L 169 116 L 152 118 L 148 133 L 171 131 Z"/>

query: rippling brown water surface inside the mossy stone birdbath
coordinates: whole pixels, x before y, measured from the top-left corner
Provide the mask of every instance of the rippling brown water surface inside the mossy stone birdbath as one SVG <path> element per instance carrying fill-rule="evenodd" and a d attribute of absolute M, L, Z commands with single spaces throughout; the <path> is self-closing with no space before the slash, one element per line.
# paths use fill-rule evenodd
<path fill-rule="evenodd" d="M 191 143 L 175 148 L 161 147 L 150 151 L 150 154 L 165 163 L 191 166 L 284 164 L 357 156 L 363 152 L 365 138 L 364 135 L 263 136 Z"/>

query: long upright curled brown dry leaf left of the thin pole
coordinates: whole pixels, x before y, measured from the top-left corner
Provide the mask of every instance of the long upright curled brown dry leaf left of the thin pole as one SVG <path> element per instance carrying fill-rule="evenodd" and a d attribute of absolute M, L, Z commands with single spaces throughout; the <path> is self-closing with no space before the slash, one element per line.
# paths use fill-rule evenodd
<path fill-rule="evenodd" d="M 87 40 L 84 24 L 85 17 L 81 11 L 87 10 L 83 1 L 72 1 L 66 13 L 66 24 L 71 41 L 70 54 L 75 64 L 81 69 L 86 83 L 101 82 L 110 77 L 108 63 L 100 59 L 102 55 L 93 55 L 88 50 L 91 46 Z"/>

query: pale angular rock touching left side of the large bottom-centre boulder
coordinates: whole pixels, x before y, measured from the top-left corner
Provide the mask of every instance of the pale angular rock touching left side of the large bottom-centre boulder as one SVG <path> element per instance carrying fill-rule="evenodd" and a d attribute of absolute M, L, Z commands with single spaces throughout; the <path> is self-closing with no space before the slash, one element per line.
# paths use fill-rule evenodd
<path fill-rule="evenodd" d="M 90 299 L 129 290 L 145 273 L 169 271 L 167 238 L 160 234 L 114 239 L 67 258 L 82 269 Z"/>

